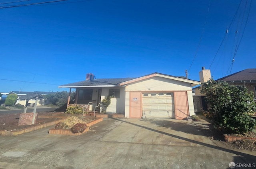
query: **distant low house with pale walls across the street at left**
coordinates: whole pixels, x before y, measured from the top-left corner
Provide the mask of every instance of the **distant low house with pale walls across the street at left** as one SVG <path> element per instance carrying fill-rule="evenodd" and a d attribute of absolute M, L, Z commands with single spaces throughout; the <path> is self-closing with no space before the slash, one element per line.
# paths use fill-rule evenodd
<path fill-rule="evenodd" d="M 17 101 L 16 101 L 15 104 L 18 104 L 18 103 L 19 103 L 19 104 L 22 104 L 22 105 L 25 106 L 26 100 L 20 99 L 21 96 L 26 96 L 27 94 L 28 94 L 28 95 L 30 95 L 30 94 L 40 94 L 40 95 L 42 95 L 42 96 L 45 96 L 45 95 L 47 95 L 47 94 L 54 94 L 54 93 L 56 93 L 56 92 L 40 92 L 40 91 L 35 91 L 35 92 L 23 92 L 23 91 L 10 91 L 8 94 L 17 94 L 18 99 L 17 99 Z M 43 105 L 43 104 L 45 104 L 45 101 L 46 101 L 46 99 L 40 98 L 40 99 L 39 99 L 39 102 L 37 103 L 37 105 Z M 35 99 L 35 98 L 30 99 L 30 100 L 28 101 L 28 103 L 29 103 L 30 105 L 33 105 L 35 102 L 36 102 L 36 99 Z"/>

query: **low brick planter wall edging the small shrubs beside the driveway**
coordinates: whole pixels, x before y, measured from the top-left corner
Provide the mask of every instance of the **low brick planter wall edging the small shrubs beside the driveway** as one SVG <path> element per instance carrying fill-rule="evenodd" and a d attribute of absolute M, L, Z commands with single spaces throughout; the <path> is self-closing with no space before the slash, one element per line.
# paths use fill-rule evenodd
<path fill-rule="evenodd" d="M 70 129 L 56 129 L 56 128 L 51 128 L 49 130 L 49 134 L 59 134 L 59 135 L 68 135 L 68 136 L 79 136 L 85 132 L 88 132 L 89 131 L 89 127 L 94 125 L 94 124 L 97 124 L 98 122 L 101 122 L 103 120 L 103 118 L 98 118 L 96 120 L 93 120 L 92 122 L 89 122 L 86 124 L 87 128 L 84 130 L 84 132 L 82 133 L 72 133 L 70 131 Z"/>

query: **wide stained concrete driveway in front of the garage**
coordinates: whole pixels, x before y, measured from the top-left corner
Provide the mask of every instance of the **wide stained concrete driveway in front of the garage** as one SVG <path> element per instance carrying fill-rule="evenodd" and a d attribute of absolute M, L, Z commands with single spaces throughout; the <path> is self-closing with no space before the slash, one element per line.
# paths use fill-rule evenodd
<path fill-rule="evenodd" d="M 209 126 L 206 121 L 106 118 L 81 136 L 50 135 L 49 128 L 0 136 L 0 168 L 228 169 L 230 162 L 255 165 L 255 151 L 220 147 L 210 140 Z"/>

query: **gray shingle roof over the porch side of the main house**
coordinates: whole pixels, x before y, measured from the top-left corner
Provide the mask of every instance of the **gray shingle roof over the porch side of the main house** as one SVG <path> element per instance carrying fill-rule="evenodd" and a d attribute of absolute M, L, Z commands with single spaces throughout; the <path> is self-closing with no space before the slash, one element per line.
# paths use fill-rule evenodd
<path fill-rule="evenodd" d="M 69 83 L 60 86 L 108 86 L 108 85 L 118 85 L 119 83 L 130 81 L 136 78 L 112 78 L 112 79 L 94 79 L 92 81 L 80 81 L 75 83 Z"/>

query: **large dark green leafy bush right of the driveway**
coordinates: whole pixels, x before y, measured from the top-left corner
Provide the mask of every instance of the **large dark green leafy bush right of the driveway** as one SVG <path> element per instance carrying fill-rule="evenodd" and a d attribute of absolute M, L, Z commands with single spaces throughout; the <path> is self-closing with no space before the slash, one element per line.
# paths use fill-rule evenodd
<path fill-rule="evenodd" d="M 247 88 L 231 86 L 223 81 L 210 79 L 200 89 L 205 100 L 210 104 L 208 109 L 214 126 L 229 133 L 245 133 L 256 128 L 252 113 L 256 110 L 254 95 Z"/>

